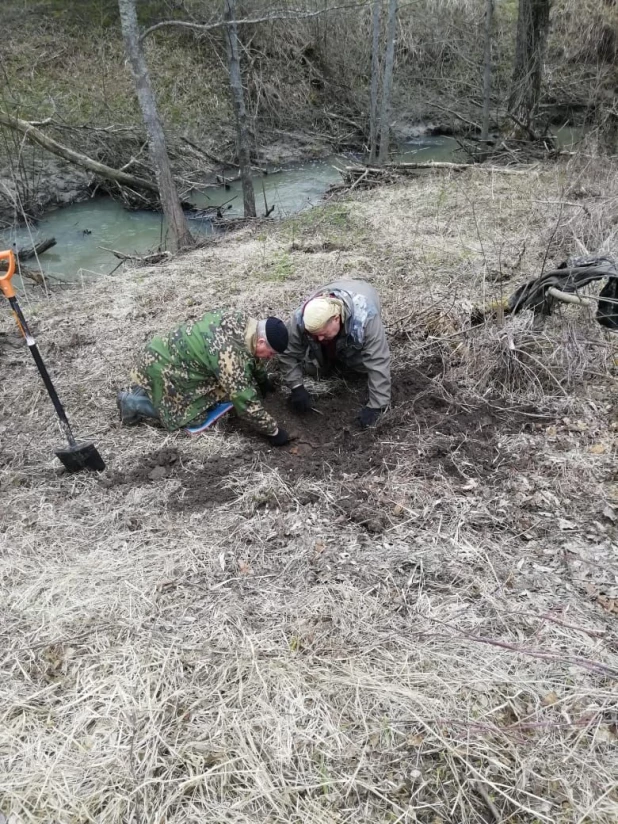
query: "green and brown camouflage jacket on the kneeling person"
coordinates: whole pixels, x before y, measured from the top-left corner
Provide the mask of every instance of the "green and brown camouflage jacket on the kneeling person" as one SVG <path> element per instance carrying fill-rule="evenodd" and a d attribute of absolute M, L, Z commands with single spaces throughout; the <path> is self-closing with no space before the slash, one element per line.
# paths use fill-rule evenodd
<path fill-rule="evenodd" d="M 226 400 L 262 434 L 277 431 L 259 399 L 266 371 L 253 354 L 252 329 L 255 321 L 244 312 L 213 309 L 146 346 L 132 379 L 146 389 L 166 429 L 197 423 Z"/>

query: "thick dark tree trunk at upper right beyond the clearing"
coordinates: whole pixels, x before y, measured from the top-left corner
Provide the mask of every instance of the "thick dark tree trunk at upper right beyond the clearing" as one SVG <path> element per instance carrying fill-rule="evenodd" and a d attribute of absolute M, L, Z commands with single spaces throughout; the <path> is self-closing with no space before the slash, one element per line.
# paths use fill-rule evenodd
<path fill-rule="evenodd" d="M 543 58 L 552 0 L 519 0 L 509 113 L 531 132 L 541 96 Z"/>

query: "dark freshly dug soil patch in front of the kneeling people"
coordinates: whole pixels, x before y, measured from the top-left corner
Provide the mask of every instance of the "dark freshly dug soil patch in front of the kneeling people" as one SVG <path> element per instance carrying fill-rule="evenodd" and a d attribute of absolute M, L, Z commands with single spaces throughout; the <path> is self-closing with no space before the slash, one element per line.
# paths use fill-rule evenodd
<path fill-rule="evenodd" d="M 211 458 L 197 471 L 190 471 L 181 466 L 176 449 L 161 449 L 144 456 L 130 471 L 113 473 L 111 483 L 143 485 L 177 478 L 181 489 L 170 500 L 170 506 L 192 512 L 233 500 L 237 493 L 226 485 L 226 479 L 251 465 L 276 469 L 291 482 L 319 481 L 327 475 L 379 475 L 404 460 L 419 477 L 446 473 L 463 480 L 504 470 L 510 458 L 500 448 L 501 436 L 538 422 L 541 418 L 537 410 L 489 401 L 470 406 L 458 388 L 443 379 L 441 371 L 441 361 L 431 359 L 421 367 L 396 372 L 392 408 L 378 426 L 368 430 L 362 430 L 356 420 L 366 400 L 363 376 L 338 383 L 332 394 L 320 394 L 315 399 L 318 411 L 306 416 L 296 415 L 287 396 L 277 391 L 265 399 L 264 405 L 290 433 L 289 446 L 269 447 L 246 424 L 228 416 L 220 426 L 228 431 L 240 430 L 251 438 L 242 452 Z M 344 501 L 341 509 L 357 520 L 358 504 L 358 500 Z M 371 528 L 374 519 L 367 519 L 365 507 L 359 517 Z"/>

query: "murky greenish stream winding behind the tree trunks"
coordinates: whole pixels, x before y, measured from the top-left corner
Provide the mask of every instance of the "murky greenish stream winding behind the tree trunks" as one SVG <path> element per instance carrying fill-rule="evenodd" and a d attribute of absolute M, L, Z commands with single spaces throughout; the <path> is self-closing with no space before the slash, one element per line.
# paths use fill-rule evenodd
<path fill-rule="evenodd" d="M 572 143 L 574 130 L 563 129 L 562 145 Z M 458 160 L 459 145 L 454 137 L 417 137 L 399 147 L 393 160 L 419 161 Z M 358 158 L 352 155 L 332 155 L 322 160 L 307 161 L 253 178 L 258 214 L 264 214 L 265 203 L 274 206 L 273 218 L 283 218 L 320 201 L 328 187 L 341 178 L 338 169 Z M 226 188 L 219 186 L 195 193 L 191 202 L 197 208 L 226 206 L 226 217 L 242 216 L 240 181 Z M 189 220 L 195 237 L 212 234 L 208 219 Z M 166 224 L 158 212 L 129 212 L 108 197 L 96 197 L 82 203 L 48 212 L 33 226 L 18 227 L 0 233 L 0 246 L 18 248 L 33 246 L 45 239 L 56 238 L 57 245 L 41 258 L 43 272 L 53 280 L 83 282 L 109 274 L 119 264 L 112 249 L 124 254 L 144 255 L 165 244 Z M 35 261 L 29 262 L 33 267 Z"/>

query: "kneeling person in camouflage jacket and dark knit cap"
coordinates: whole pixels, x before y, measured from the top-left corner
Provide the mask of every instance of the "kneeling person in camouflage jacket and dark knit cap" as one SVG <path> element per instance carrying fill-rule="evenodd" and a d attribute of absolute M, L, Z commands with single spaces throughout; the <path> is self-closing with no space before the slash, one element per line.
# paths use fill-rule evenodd
<path fill-rule="evenodd" d="M 260 360 L 285 351 L 288 332 L 278 318 L 255 320 L 233 309 L 213 309 L 146 346 L 118 393 L 120 419 L 132 426 L 154 419 L 169 430 L 201 423 L 223 401 L 274 446 L 289 442 L 260 401 L 273 387 Z"/>

